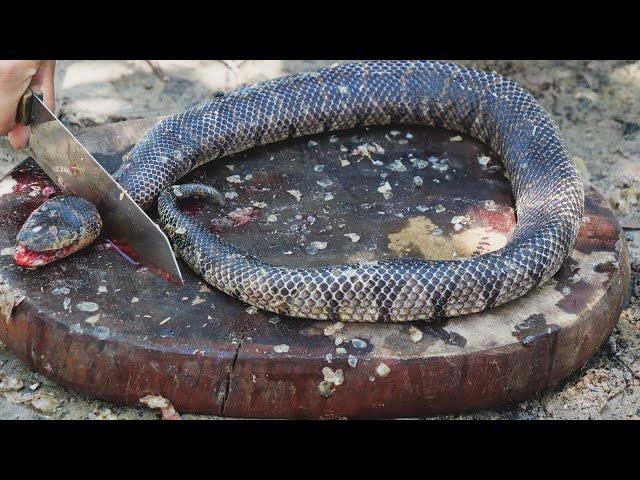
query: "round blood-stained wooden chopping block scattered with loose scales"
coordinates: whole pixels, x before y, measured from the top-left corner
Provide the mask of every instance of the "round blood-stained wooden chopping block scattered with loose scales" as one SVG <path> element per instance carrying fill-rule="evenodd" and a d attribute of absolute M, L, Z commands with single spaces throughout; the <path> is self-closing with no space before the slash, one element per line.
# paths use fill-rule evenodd
<path fill-rule="evenodd" d="M 113 172 L 154 121 L 79 138 Z M 499 159 L 469 137 L 423 127 L 281 142 L 212 162 L 188 181 L 216 186 L 228 202 L 186 211 L 277 265 L 481 255 L 515 225 Z M 256 312 L 182 262 L 185 284 L 176 286 L 106 238 L 38 270 L 17 267 L 15 236 L 53 191 L 30 159 L 0 181 L 0 338 L 30 368 L 118 403 L 161 395 L 180 412 L 366 418 L 521 401 L 589 359 L 629 283 L 622 230 L 590 186 L 573 254 L 534 292 L 432 323 L 344 325 Z"/>

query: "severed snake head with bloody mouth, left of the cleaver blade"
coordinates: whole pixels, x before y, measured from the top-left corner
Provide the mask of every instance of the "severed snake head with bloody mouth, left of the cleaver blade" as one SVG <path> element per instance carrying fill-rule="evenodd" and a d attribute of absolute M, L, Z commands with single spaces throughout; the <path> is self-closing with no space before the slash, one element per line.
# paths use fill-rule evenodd
<path fill-rule="evenodd" d="M 31 212 L 16 237 L 13 259 L 22 267 L 39 267 L 92 243 L 102 220 L 96 207 L 81 197 L 59 196 Z"/>

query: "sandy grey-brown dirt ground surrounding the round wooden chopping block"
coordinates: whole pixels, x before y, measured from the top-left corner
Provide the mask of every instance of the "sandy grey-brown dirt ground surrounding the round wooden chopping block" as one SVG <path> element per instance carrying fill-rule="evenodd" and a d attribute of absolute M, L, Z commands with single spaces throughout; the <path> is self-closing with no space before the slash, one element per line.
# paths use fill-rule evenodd
<path fill-rule="evenodd" d="M 60 61 L 57 112 L 69 128 L 178 112 L 208 97 L 332 61 Z M 630 296 L 614 332 L 586 365 L 520 404 L 446 418 L 640 418 L 640 61 L 463 61 L 526 86 L 559 123 L 583 175 L 610 203 L 631 257 Z M 0 174 L 21 156 L 0 138 Z M 3 392 L 4 390 L 4 392 Z M 28 405 L 18 399 L 33 392 Z M 76 394 L 31 372 L 0 343 L 0 419 L 156 419 Z M 213 418 L 183 415 L 182 418 Z"/>

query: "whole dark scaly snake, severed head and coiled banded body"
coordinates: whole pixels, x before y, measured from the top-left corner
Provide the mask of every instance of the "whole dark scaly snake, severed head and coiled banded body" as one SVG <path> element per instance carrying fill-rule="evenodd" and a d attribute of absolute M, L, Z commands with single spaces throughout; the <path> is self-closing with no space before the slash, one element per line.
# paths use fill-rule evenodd
<path fill-rule="evenodd" d="M 504 247 L 454 260 L 288 268 L 228 243 L 180 209 L 189 197 L 224 202 L 211 186 L 176 185 L 208 161 L 293 137 L 396 124 L 461 132 L 500 157 L 517 217 Z M 213 287 L 261 310 L 341 322 L 434 320 L 519 298 L 559 270 L 584 210 L 576 166 L 540 103 L 495 72 L 439 61 L 343 63 L 214 95 L 151 127 L 114 178 L 143 209 L 157 202 L 174 250 Z M 73 198 L 54 197 L 33 212 L 18 235 L 17 262 L 31 266 L 35 256 L 46 264 L 97 236 L 97 211 L 85 201 L 71 212 Z"/>

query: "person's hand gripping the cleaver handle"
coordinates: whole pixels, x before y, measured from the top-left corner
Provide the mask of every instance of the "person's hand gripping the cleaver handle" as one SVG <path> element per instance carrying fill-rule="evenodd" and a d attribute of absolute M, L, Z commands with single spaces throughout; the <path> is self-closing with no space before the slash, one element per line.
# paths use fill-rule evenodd
<path fill-rule="evenodd" d="M 0 135 L 9 136 L 13 148 L 21 150 L 29 140 L 29 126 L 16 123 L 18 102 L 27 87 L 37 87 L 44 103 L 53 111 L 55 60 L 0 60 Z"/>

